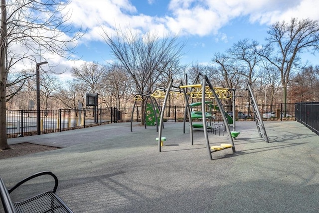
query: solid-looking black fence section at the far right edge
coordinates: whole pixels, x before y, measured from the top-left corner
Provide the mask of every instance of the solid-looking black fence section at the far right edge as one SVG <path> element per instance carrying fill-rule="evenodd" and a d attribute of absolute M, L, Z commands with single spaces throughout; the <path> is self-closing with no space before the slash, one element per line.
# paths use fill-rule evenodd
<path fill-rule="evenodd" d="M 301 102 L 295 106 L 296 120 L 319 135 L 319 102 Z"/>

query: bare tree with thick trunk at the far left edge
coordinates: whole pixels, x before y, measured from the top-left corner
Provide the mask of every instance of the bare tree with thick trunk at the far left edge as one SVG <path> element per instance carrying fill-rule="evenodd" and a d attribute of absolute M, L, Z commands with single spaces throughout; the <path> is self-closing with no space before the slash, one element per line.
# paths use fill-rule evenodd
<path fill-rule="evenodd" d="M 25 60 L 37 62 L 45 53 L 68 58 L 81 30 L 74 31 L 65 15 L 67 12 L 63 14 L 67 0 L 0 2 L 0 149 L 8 149 L 5 102 L 7 77 L 12 66 Z M 14 46 L 24 50 L 16 50 Z"/>

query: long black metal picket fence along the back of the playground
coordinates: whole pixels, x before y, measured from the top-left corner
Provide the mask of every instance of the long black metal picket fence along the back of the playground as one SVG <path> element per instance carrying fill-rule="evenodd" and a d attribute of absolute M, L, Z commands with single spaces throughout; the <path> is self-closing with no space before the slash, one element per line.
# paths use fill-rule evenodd
<path fill-rule="evenodd" d="M 231 111 L 230 105 L 224 105 L 225 111 Z M 259 109 L 265 120 L 294 120 L 295 104 L 263 104 Z M 166 106 L 164 121 L 180 122 L 184 118 L 184 106 Z M 192 110 L 200 111 L 201 106 L 193 107 Z M 207 109 L 208 111 L 209 109 Z M 236 105 L 236 110 L 253 118 L 252 106 Z M 40 134 L 61 132 L 72 129 L 86 128 L 96 125 L 131 122 L 132 107 L 109 107 L 109 108 L 86 108 L 86 109 L 59 109 L 40 110 Z M 285 113 L 286 112 L 286 113 Z M 221 118 L 219 111 L 211 113 L 218 119 Z M 142 107 L 134 110 L 133 122 L 141 122 Z M 241 117 L 237 119 L 242 119 Z M 37 134 L 36 110 L 10 110 L 6 112 L 7 136 L 19 137 Z"/>

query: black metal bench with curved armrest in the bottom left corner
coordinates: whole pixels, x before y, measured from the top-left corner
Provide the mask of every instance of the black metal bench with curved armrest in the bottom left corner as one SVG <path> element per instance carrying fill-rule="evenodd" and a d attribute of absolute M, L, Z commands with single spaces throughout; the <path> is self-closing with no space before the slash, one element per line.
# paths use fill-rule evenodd
<path fill-rule="evenodd" d="M 43 175 L 54 178 L 55 185 L 52 191 L 41 193 L 22 202 L 12 202 L 10 193 L 25 182 Z M 58 188 L 57 177 L 48 171 L 36 173 L 17 183 L 11 189 L 7 189 L 0 176 L 0 196 L 5 213 L 73 213 L 68 206 L 55 194 Z"/>

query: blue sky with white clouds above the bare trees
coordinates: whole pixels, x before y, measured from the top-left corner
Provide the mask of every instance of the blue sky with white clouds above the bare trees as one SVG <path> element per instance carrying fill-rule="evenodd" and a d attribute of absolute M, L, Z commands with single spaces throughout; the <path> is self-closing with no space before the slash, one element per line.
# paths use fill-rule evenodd
<path fill-rule="evenodd" d="M 80 60 L 47 56 L 52 59 L 50 65 L 59 63 L 56 69 L 61 70 L 85 61 L 105 64 L 113 59 L 101 27 L 110 34 L 116 27 L 127 26 L 142 33 L 178 34 L 186 42 L 183 64 L 209 64 L 214 53 L 224 52 L 241 39 L 264 43 L 268 27 L 276 21 L 319 20 L 319 0 L 72 0 L 68 7 L 73 25 L 82 25 L 87 32 L 78 40 L 74 55 Z M 319 64 L 319 55 L 307 58 Z"/>

